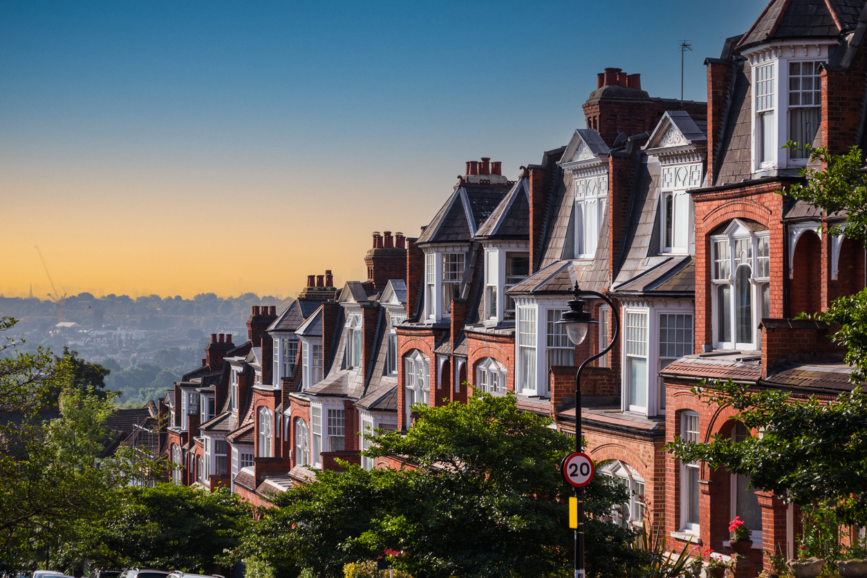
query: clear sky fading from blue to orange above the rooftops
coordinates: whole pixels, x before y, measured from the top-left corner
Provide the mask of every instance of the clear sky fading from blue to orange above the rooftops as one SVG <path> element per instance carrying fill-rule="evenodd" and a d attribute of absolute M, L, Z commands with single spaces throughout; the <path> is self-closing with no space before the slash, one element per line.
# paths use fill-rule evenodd
<path fill-rule="evenodd" d="M 0 0 L 0 294 L 296 295 L 418 237 L 467 160 L 515 179 L 596 73 L 707 99 L 758 0 Z"/>

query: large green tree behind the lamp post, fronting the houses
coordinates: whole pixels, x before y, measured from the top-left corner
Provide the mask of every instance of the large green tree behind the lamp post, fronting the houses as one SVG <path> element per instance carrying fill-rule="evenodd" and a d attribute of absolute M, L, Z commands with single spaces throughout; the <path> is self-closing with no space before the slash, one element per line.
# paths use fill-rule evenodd
<path fill-rule="evenodd" d="M 401 456 L 403 470 L 364 471 L 347 464 L 275 497 L 244 554 L 284 575 L 311 568 L 336 578 L 349 562 L 400 551 L 396 568 L 415 578 L 563 575 L 573 532 L 557 471 L 572 440 L 550 419 L 520 412 L 513 395 L 474 390 L 467 404 L 417 406 L 401 435 L 378 432 L 368 457 Z M 590 575 L 626 575 L 642 562 L 634 533 L 606 522 L 626 490 L 598 476 L 586 491 Z"/>

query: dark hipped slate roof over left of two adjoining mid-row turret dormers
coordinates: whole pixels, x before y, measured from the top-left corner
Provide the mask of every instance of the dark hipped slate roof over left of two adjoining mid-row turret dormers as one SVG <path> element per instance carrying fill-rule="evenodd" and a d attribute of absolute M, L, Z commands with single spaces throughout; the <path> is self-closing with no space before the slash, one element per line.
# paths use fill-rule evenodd
<path fill-rule="evenodd" d="M 461 184 L 442 206 L 416 244 L 469 243 L 508 192 L 508 185 Z"/>

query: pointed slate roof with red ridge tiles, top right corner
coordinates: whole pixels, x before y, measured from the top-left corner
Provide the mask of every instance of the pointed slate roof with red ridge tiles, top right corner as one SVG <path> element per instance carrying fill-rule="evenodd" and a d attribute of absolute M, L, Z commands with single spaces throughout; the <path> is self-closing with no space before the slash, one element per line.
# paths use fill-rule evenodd
<path fill-rule="evenodd" d="M 784 38 L 838 36 L 838 23 L 854 29 L 863 8 L 863 0 L 772 0 L 738 46 Z"/>

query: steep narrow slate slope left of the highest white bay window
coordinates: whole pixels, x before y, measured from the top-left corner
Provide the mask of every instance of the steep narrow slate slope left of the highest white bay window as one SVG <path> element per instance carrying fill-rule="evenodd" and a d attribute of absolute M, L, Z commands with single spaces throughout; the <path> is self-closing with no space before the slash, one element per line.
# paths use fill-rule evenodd
<path fill-rule="evenodd" d="M 723 183 L 740 183 L 750 179 L 750 163 L 753 154 L 752 145 L 752 105 L 750 85 L 750 63 L 744 59 L 736 59 L 731 64 L 733 68 L 731 88 L 729 88 L 727 112 L 723 124 L 720 149 L 717 154 L 716 170 L 713 185 Z"/>

